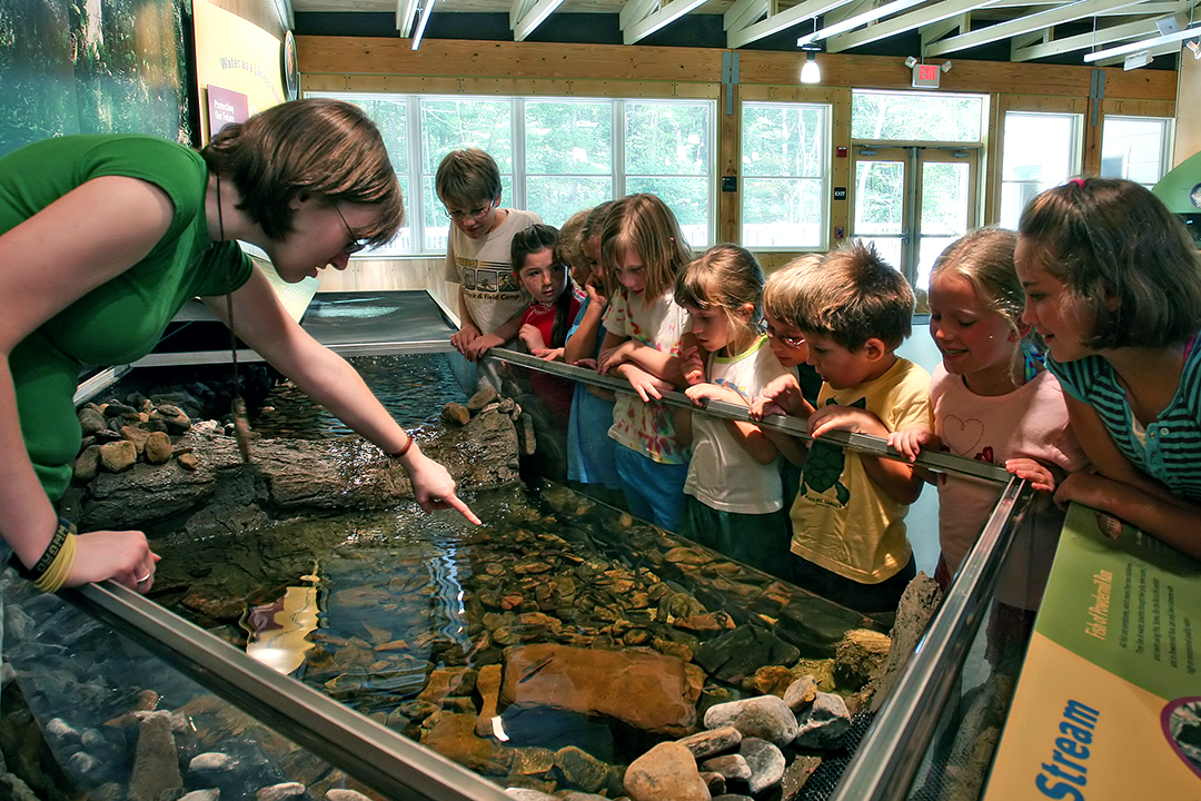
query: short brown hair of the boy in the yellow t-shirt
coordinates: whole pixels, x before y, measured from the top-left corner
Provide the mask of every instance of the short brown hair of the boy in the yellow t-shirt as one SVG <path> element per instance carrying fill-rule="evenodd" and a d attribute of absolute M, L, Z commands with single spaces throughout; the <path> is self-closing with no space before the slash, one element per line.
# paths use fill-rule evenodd
<path fill-rule="evenodd" d="M 891 352 L 913 331 L 909 282 L 861 239 L 826 253 L 795 281 L 790 322 L 850 352 L 878 339 Z"/>

